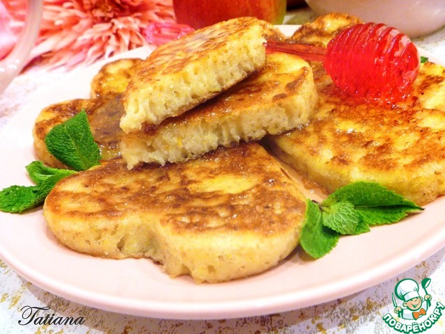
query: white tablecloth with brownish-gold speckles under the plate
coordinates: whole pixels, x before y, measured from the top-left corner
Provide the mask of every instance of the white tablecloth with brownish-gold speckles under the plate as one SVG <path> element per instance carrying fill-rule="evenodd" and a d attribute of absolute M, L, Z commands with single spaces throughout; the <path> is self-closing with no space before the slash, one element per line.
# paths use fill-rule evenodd
<path fill-rule="evenodd" d="M 301 17 L 288 15 L 286 23 L 300 24 Z M 445 29 L 415 42 L 445 59 Z M 22 106 L 65 75 L 67 74 L 59 71 L 45 72 L 44 75 L 36 72 L 17 77 L 0 95 L 0 132 Z M 410 328 L 397 328 L 402 323 L 397 325 L 394 321 L 389 321 L 387 324 L 382 320 L 385 314 L 394 312 L 391 293 L 394 292 L 395 285 L 404 278 L 420 282 L 426 277 L 434 283 L 428 292 L 434 296 L 435 302 L 442 301 L 445 304 L 445 249 L 394 278 L 363 292 L 322 305 L 243 319 L 175 321 L 120 315 L 67 301 L 20 278 L 0 260 L 0 333 L 397 333 L 396 329 L 409 331 Z M 22 308 L 26 305 L 49 306 L 54 317 L 83 317 L 84 322 L 81 325 L 68 326 L 23 325 Z M 425 328 L 424 333 L 445 333 L 445 317 L 437 318 L 430 319 L 433 321 L 432 326 L 419 321 L 417 326 L 411 328 L 411 333 L 421 333 Z M 391 324 L 394 327 L 389 326 Z"/>

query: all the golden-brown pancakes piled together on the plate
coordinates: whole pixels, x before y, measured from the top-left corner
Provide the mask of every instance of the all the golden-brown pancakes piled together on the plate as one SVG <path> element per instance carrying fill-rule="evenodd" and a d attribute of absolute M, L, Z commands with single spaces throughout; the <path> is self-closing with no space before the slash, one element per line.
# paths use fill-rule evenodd
<path fill-rule="evenodd" d="M 358 22 L 326 15 L 287 41 L 323 46 Z M 444 193 L 442 67 L 423 64 L 393 108 L 371 106 L 340 93 L 321 63 L 266 54 L 265 38 L 284 36 L 250 17 L 200 29 L 146 60 L 109 63 L 90 100 L 44 109 L 41 160 L 60 166 L 44 136 L 80 109 L 104 159 L 47 197 L 58 240 L 216 283 L 269 269 L 298 244 L 306 199 L 275 157 L 326 192 L 372 180 L 421 205 Z"/>

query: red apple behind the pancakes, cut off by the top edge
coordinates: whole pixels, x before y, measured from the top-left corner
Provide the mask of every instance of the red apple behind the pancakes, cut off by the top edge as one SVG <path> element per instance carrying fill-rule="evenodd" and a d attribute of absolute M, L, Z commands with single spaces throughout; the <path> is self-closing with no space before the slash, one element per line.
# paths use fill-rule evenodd
<path fill-rule="evenodd" d="M 173 0 L 173 9 L 177 22 L 193 29 L 242 16 L 281 24 L 286 0 Z"/>

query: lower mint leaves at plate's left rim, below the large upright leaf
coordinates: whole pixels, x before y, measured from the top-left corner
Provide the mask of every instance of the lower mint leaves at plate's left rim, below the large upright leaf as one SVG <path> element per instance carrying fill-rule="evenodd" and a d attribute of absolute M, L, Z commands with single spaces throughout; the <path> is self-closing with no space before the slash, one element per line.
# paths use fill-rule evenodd
<path fill-rule="evenodd" d="M 34 174 L 34 168 L 38 169 L 38 164 L 29 164 L 26 166 L 31 169 Z M 44 199 L 47 198 L 51 189 L 54 188 L 57 182 L 68 175 L 72 175 L 73 170 L 56 170 L 53 175 L 41 177 L 38 173 L 31 178 L 37 180 L 35 186 L 9 186 L 0 191 L 0 211 L 10 213 L 22 213 L 26 210 L 33 209 L 38 205 L 42 205 Z"/>

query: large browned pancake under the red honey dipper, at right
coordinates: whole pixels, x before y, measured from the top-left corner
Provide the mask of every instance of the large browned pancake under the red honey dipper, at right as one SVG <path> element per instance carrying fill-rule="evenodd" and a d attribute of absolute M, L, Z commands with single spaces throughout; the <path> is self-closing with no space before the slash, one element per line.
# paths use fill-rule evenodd
<path fill-rule="evenodd" d="M 332 15 L 321 17 L 315 28 L 302 27 L 313 31 L 309 40 L 322 36 L 325 44 L 325 31 L 317 31 L 322 21 L 349 26 L 344 17 L 341 24 Z M 336 33 L 330 31 L 332 37 Z M 334 87 L 321 63 L 312 67 L 320 106 L 309 125 L 270 136 L 270 152 L 327 192 L 366 180 L 418 205 L 445 193 L 444 67 L 421 65 L 410 97 L 392 108 L 357 102 Z"/>

